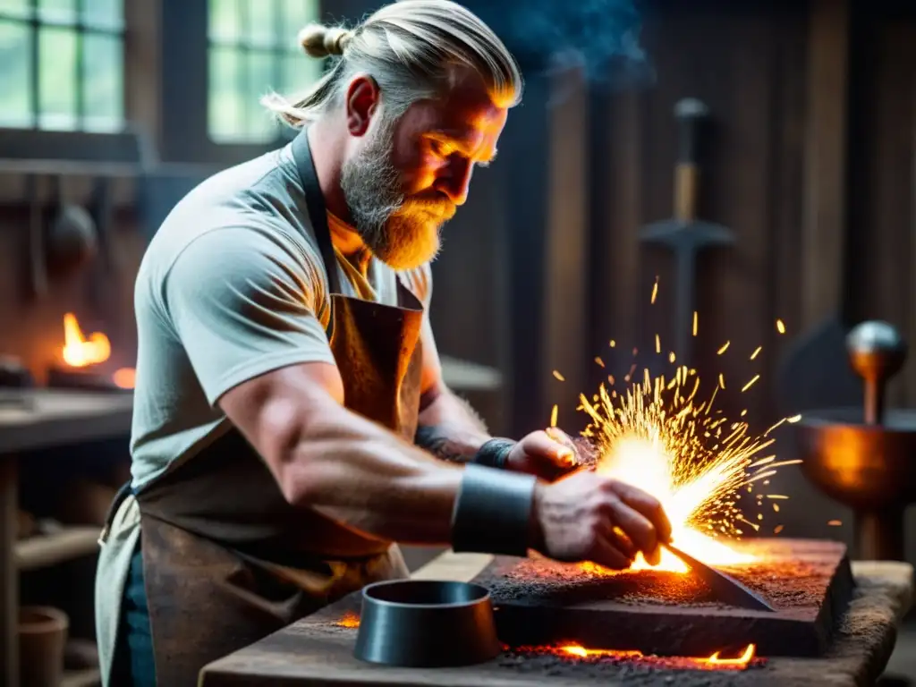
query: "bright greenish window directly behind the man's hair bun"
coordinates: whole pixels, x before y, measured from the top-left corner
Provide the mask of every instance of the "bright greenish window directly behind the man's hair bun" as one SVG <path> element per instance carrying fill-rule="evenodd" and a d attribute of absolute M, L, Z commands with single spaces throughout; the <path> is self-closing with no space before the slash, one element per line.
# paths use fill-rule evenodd
<path fill-rule="evenodd" d="M 278 137 L 259 100 L 271 90 L 296 93 L 322 75 L 322 61 L 303 55 L 296 40 L 320 11 L 318 0 L 209 0 L 207 128 L 215 143 Z"/>

